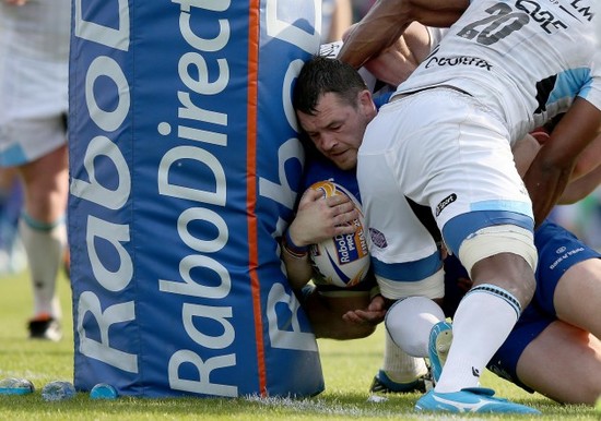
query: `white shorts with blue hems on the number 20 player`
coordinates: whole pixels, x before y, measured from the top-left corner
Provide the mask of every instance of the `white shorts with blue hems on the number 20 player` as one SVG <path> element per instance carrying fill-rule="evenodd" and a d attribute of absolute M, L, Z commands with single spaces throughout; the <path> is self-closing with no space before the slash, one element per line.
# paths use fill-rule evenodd
<path fill-rule="evenodd" d="M 472 97 L 450 88 L 381 107 L 365 132 L 357 179 L 374 268 L 384 278 L 419 281 L 440 267 L 437 245 L 406 197 L 429 207 L 455 253 L 483 227 L 533 225 L 507 130 Z M 490 220 L 487 212 L 503 220 Z M 460 215 L 469 218 L 445 230 Z"/>

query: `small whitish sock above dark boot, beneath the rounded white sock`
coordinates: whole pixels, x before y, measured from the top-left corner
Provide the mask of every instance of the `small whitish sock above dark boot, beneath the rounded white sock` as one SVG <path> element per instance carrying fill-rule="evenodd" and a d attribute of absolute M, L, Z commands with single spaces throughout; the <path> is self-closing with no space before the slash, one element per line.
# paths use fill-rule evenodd
<path fill-rule="evenodd" d="M 411 383 L 427 373 L 424 359 L 411 357 L 404 352 L 390 338 L 388 332 L 386 333 L 381 370 L 397 383 Z"/>

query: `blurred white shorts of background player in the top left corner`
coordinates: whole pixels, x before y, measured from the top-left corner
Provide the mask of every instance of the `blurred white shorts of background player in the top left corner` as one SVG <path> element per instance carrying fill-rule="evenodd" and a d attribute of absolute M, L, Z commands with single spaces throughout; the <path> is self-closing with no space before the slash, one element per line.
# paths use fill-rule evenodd
<path fill-rule="evenodd" d="M 0 166 L 67 142 L 69 0 L 0 2 Z"/>

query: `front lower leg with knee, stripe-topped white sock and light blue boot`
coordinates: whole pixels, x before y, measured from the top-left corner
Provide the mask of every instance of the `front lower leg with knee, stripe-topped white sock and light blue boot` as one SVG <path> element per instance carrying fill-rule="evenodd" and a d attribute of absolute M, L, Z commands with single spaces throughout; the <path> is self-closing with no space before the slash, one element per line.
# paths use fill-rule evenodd
<path fill-rule="evenodd" d="M 478 411 L 539 413 L 495 399 L 493 390 L 480 388 L 483 369 L 508 337 L 533 293 L 531 263 L 517 254 L 499 253 L 478 261 L 471 274 L 474 287 L 455 314 L 453 339 L 440 377 L 415 408 L 457 412 L 482 407 Z M 440 399 L 446 404 L 440 404 Z"/>

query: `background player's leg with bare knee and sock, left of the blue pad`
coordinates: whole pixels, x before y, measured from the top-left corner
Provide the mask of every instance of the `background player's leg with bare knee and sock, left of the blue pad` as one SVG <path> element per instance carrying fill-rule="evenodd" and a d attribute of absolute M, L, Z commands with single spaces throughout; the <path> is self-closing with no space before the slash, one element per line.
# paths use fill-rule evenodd
<path fill-rule="evenodd" d="M 20 230 L 34 292 L 34 318 L 30 322 L 32 338 L 58 340 L 61 337 L 56 280 L 67 244 L 67 146 L 62 145 L 20 167 L 25 185 L 25 211 Z"/>

